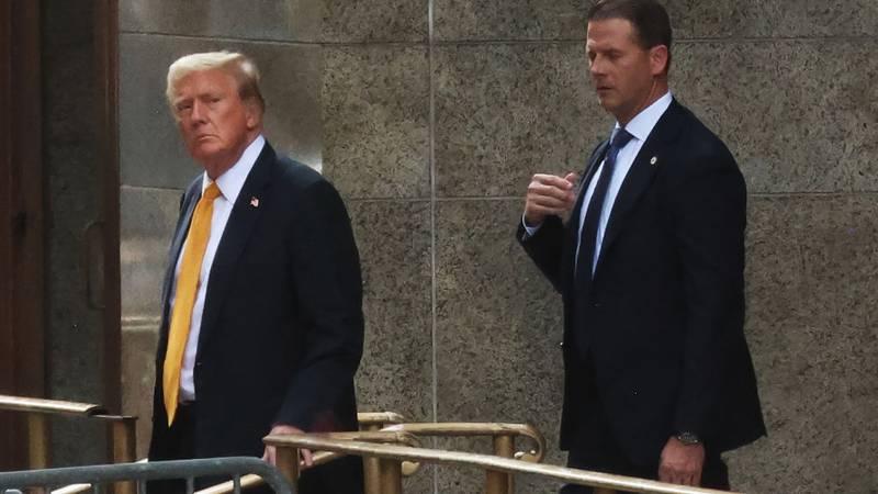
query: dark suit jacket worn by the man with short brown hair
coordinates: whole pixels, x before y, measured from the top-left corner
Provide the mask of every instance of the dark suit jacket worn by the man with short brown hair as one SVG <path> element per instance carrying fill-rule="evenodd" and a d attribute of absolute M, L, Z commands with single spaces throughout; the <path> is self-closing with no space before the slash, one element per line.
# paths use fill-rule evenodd
<path fill-rule="evenodd" d="M 743 333 L 746 188 L 728 148 L 673 101 L 623 181 L 593 279 L 575 280 L 582 195 L 566 224 L 518 228 L 564 301 L 562 448 L 588 440 L 592 382 L 637 463 L 657 463 L 676 431 L 719 451 L 764 435 Z"/>

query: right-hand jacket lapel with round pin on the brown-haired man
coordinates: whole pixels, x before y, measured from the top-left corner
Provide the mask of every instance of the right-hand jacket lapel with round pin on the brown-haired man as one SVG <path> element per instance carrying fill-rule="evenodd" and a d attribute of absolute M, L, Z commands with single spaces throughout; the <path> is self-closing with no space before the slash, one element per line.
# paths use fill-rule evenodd
<path fill-rule="evenodd" d="M 667 153 L 669 144 L 676 139 L 679 134 L 683 119 L 683 108 L 676 100 L 671 102 L 671 106 L 658 119 L 643 147 L 640 148 L 631 169 L 622 182 L 622 188 L 616 197 L 616 202 L 612 205 L 609 221 L 607 222 L 607 231 L 604 234 L 604 242 L 600 247 L 600 257 L 598 257 L 597 271 L 600 270 L 600 263 L 604 260 L 606 252 L 612 247 L 614 242 L 619 237 L 619 234 L 624 228 L 626 220 L 629 213 L 638 203 L 638 200 L 643 192 L 652 183 L 656 170 L 665 161 L 664 154 Z M 653 160 L 653 158 L 655 158 Z"/>

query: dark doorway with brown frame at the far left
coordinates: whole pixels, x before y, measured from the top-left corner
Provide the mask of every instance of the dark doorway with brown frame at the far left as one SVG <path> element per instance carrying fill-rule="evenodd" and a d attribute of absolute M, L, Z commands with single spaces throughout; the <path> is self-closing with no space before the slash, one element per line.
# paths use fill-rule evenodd
<path fill-rule="evenodd" d="M 119 412 L 116 1 L 0 5 L 0 393 Z M 24 467 L 23 420 L 0 427 Z M 55 463 L 103 457 L 79 427 L 53 425 Z"/>

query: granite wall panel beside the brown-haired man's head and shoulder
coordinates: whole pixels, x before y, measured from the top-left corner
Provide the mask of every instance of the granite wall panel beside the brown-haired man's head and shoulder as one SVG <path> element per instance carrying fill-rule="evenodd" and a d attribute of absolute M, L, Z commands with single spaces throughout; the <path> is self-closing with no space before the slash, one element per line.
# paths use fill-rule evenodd
<path fill-rule="evenodd" d="M 751 193 L 875 190 L 877 47 L 875 40 L 683 43 L 672 90 L 725 139 Z"/>

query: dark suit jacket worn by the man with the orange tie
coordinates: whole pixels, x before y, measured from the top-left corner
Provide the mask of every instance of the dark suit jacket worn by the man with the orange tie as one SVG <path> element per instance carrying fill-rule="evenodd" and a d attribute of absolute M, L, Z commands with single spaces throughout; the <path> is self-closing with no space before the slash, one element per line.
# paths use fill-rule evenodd
<path fill-rule="evenodd" d="M 161 371 L 171 284 L 201 189 L 199 176 L 182 198 L 165 278 L 156 459 L 169 440 Z M 359 255 L 340 197 L 319 173 L 266 144 L 211 267 L 194 368 L 195 456 L 261 456 L 261 439 L 277 424 L 357 430 L 361 302 Z"/>

